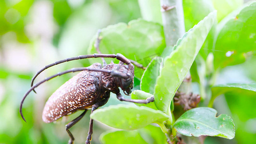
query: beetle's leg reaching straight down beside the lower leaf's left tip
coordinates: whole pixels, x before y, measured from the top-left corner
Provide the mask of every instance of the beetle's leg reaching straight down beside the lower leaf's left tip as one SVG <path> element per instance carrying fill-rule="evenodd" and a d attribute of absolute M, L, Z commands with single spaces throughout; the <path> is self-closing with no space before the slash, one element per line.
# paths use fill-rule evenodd
<path fill-rule="evenodd" d="M 93 113 L 93 111 L 95 109 L 97 109 L 98 107 L 101 107 L 101 106 L 105 105 L 108 102 L 108 100 L 110 98 L 110 93 L 107 94 L 107 95 L 109 95 L 109 96 L 92 106 L 92 112 L 91 113 Z M 91 144 L 90 141 L 92 140 L 92 132 L 93 132 L 93 119 L 90 119 L 89 132 L 88 132 L 85 144 Z"/>

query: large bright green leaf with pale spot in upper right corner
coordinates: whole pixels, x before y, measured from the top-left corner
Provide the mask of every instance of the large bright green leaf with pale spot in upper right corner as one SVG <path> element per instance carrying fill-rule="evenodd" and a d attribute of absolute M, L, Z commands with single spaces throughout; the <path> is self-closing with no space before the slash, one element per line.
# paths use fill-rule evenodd
<path fill-rule="evenodd" d="M 233 12 L 218 24 L 215 45 L 215 68 L 223 68 L 245 61 L 256 53 L 256 1 Z"/>

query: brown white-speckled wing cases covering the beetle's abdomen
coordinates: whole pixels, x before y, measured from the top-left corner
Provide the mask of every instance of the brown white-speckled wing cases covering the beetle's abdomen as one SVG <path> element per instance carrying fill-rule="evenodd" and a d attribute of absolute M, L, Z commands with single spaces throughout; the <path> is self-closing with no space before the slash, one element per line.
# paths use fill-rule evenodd
<path fill-rule="evenodd" d="M 101 69 L 100 63 L 91 68 Z M 48 99 L 43 110 L 43 121 L 52 122 L 76 110 L 91 108 L 100 99 L 108 98 L 99 86 L 99 73 L 82 71 L 61 85 Z"/>

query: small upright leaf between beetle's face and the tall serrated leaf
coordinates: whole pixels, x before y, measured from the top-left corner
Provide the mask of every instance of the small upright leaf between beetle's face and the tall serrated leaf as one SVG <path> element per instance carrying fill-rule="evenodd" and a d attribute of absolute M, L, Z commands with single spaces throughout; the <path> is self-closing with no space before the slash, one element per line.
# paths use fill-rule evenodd
<path fill-rule="evenodd" d="M 154 88 L 157 82 L 157 77 L 160 74 L 162 59 L 160 57 L 156 57 L 148 64 L 146 70 L 143 72 L 140 81 L 140 89 L 154 94 Z"/>

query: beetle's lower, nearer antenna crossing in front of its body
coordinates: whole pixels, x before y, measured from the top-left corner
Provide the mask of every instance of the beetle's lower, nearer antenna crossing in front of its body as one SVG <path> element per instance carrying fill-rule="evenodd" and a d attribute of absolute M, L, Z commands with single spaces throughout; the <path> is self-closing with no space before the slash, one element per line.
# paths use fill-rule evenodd
<path fill-rule="evenodd" d="M 112 72 L 112 71 L 110 71 L 110 70 L 102 70 L 102 69 L 95 69 L 95 68 L 73 68 L 73 69 L 70 69 L 70 70 L 67 70 L 67 71 L 58 72 L 57 74 L 54 74 L 54 75 L 52 75 L 52 76 L 50 76 L 50 77 L 45 78 L 45 80 L 43 80 L 43 81 L 41 81 L 41 82 L 39 82 L 39 83 L 33 85 L 33 86 L 25 93 L 25 95 L 24 95 L 24 97 L 23 97 L 23 99 L 22 99 L 22 101 L 21 101 L 21 105 L 20 105 L 20 114 L 21 114 L 22 119 L 23 119 L 24 121 L 26 121 L 25 118 L 24 118 L 24 116 L 23 116 L 23 113 L 22 113 L 23 102 L 24 102 L 26 96 L 27 96 L 32 90 L 34 90 L 34 89 L 35 89 L 37 86 L 39 86 L 40 84 L 43 84 L 44 82 L 49 81 L 50 79 L 52 79 L 52 78 L 54 78 L 54 77 L 61 76 L 61 75 L 63 75 L 63 74 L 69 73 L 69 72 L 79 72 L 79 71 L 96 71 L 96 72 L 106 72 L 106 73 L 110 73 L 110 74 L 111 74 L 111 72 Z M 124 74 L 124 73 L 123 73 L 123 74 Z M 115 75 L 115 74 L 114 74 L 114 75 Z"/>

